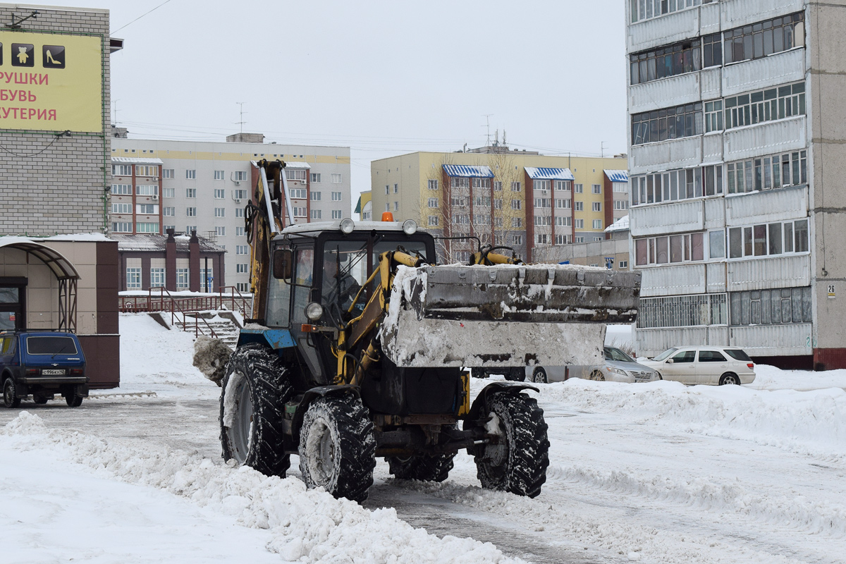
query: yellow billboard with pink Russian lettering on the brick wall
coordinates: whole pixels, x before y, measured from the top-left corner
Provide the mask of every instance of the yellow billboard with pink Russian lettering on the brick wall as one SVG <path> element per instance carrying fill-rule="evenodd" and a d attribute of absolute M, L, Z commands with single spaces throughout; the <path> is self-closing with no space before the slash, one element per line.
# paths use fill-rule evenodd
<path fill-rule="evenodd" d="M 102 133 L 102 38 L 0 30 L 0 129 Z"/>

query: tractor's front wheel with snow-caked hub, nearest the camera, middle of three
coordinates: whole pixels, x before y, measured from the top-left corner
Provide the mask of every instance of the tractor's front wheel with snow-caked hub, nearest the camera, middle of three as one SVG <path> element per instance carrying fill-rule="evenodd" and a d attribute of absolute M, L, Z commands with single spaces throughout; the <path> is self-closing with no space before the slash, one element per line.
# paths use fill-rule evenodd
<path fill-rule="evenodd" d="M 375 467 L 373 423 L 361 400 L 344 394 L 312 402 L 299 430 L 299 470 L 305 485 L 364 501 Z"/>

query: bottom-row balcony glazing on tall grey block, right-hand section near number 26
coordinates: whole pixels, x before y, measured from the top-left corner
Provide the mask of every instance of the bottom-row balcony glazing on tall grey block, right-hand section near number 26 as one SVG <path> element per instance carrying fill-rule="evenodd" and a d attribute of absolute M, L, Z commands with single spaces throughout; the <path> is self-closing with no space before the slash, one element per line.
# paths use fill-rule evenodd
<path fill-rule="evenodd" d="M 732 326 L 810 323 L 810 287 L 731 292 Z"/>

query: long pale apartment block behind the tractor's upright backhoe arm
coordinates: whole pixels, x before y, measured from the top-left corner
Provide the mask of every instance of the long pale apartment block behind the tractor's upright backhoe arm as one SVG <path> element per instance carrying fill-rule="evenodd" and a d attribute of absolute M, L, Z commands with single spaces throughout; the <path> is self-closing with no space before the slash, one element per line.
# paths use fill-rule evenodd
<path fill-rule="evenodd" d="M 250 248 L 244 207 L 253 197 L 261 159 L 287 163 L 293 222 L 351 216 L 349 148 L 264 143 L 234 134 L 225 143 L 112 140 L 111 227 L 120 234 L 193 231 L 226 250 L 225 279 L 250 291 Z M 285 218 L 286 224 L 292 218 Z M 217 263 L 215 263 L 217 264 Z M 206 277 L 222 273 L 210 266 Z"/>

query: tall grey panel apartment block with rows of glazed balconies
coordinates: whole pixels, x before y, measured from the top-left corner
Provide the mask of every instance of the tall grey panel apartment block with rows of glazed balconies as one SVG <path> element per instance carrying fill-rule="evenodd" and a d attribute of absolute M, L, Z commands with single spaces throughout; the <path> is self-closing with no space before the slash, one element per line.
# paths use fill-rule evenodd
<path fill-rule="evenodd" d="M 846 6 L 633 0 L 627 12 L 638 352 L 708 343 L 846 366 Z"/>

